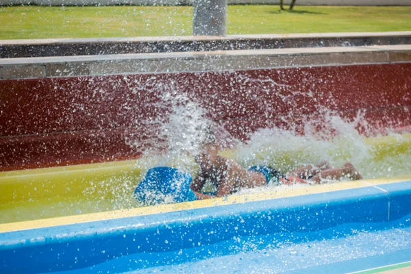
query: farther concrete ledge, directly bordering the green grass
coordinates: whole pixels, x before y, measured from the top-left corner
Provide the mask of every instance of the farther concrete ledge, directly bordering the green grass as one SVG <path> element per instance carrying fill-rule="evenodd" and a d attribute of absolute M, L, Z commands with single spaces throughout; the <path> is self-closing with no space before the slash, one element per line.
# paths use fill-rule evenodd
<path fill-rule="evenodd" d="M 0 58 L 411 44 L 411 32 L 0 40 Z"/>

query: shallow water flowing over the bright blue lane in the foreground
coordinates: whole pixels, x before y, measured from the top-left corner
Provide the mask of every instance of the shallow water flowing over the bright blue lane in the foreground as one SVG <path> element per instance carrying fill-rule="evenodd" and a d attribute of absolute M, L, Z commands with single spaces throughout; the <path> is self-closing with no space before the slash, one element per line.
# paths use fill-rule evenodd
<path fill-rule="evenodd" d="M 390 223 L 234 237 L 191 249 L 133 254 L 75 272 L 349 273 L 411 260 L 410 220 L 411 214 Z"/>

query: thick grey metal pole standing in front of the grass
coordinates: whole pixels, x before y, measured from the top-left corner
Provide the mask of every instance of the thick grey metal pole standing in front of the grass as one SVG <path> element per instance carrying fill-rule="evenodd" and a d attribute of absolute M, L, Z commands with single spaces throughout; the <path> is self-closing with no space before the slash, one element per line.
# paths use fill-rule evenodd
<path fill-rule="evenodd" d="M 227 0 L 194 0 L 192 34 L 225 36 Z"/>

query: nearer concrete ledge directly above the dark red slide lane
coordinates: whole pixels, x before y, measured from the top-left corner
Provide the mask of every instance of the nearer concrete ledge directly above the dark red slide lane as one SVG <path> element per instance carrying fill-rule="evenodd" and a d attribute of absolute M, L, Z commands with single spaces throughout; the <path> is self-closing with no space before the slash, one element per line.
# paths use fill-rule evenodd
<path fill-rule="evenodd" d="M 411 45 L 8 58 L 0 59 L 0 79 L 232 71 L 410 61 Z"/>

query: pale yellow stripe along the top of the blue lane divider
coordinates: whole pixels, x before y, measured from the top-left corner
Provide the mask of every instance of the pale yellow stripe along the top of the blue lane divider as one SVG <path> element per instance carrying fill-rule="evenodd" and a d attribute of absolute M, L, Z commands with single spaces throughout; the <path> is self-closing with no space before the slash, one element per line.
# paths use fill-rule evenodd
<path fill-rule="evenodd" d="M 355 188 L 364 188 L 376 184 L 392 184 L 411 180 L 411 175 L 393 177 L 366 179 L 360 181 L 338 182 L 334 184 L 323 184 L 314 186 L 301 186 L 298 188 L 289 186 L 280 186 L 275 191 L 258 192 L 248 195 L 232 195 L 224 198 L 215 198 L 203 201 L 192 201 L 186 203 L 174 203 L 169 205 L 151 206 L 146 208 L 132 208 L 129 210 L 114 210 L 110 212 L 99 212 L 92 214 L 82 214 L 75 216 L 64 216 L 51 219 L 42 219 L 34 221 L 23 221 L 17 223 L 5 223 L 0 225 L 0 232 L 12 232 L 25 229 L 35 229 L 41 227 L 53 227 L 58 225 L 71 225 L 75 223 L 88 223 L 92 221 L 105 221 L 110 219 L 119 219 L 132 216 L 142 216 L 149 214 L 159 214 L 165 212 L 176 212 L 180 210 L 190 210 L 196 208 L 207 208 L 212 206 L 225 206 L 235 203 L 246 203 L 250 201 L 264 201 L 269 199 L 279 199 L 294 197 L 299 195 L 309 195 L 315 193 L 332 192 L 338 190 L 347 190 Z"/>

